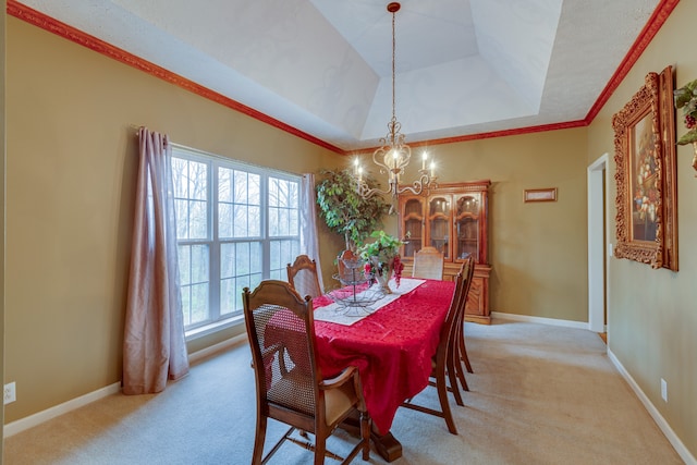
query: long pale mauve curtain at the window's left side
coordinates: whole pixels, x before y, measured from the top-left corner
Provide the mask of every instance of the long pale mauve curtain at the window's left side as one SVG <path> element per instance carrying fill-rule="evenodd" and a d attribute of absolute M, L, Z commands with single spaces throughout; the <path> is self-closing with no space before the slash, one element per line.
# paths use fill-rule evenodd
<path fill-rule="evenodd" d="M 172 149 L 139 131 L 131 276 L 123 341 L 123 392 L 162 391 L 188 372 L 176 258 Z"/>

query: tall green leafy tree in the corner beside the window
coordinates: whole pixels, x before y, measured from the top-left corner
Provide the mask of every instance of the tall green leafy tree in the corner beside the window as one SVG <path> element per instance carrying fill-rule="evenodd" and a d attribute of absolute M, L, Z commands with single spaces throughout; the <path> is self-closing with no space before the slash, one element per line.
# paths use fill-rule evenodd
<path fill-rule="evenodd" d="M 325 176 L 316 187 L 320 216 L 332 232 L 344 236 L 346 249 L 354 250 L 382 223 L 389 205 L 380 196 L 360 197 L 350 170 L 322 170 L 320 174 Z M 377 186 L 372 179 L 367 182 Z"/>

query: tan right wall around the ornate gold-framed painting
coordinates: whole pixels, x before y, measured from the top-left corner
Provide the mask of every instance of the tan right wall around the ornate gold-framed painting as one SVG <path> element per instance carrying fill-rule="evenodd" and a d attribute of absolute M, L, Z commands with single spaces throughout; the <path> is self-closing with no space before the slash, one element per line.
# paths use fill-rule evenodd
<path fill-rule="evenodd" d="M 609 242 L 615 241 L 612 115 L 644 85 L 644 77 L 675 65 L 676 85 L 697 78 L 693 42 L 697 2 L 677 4 L 667 23 L 589 127 L 588 163 L 611 155 L 608 186 L 611 209 Z M 677 134 L 685 133 L 682 110 Z M 690 147 L 677 150 L 677 230 L 680 271 L 652 270 L 627 259 L 610 259 L 608 343 L 610 351 L 647 394 L 685 446 L 697 456 L 697 179 L 690 167 Z M 668 403 L 661 400 L 660 379 L 668 382 Z"/>

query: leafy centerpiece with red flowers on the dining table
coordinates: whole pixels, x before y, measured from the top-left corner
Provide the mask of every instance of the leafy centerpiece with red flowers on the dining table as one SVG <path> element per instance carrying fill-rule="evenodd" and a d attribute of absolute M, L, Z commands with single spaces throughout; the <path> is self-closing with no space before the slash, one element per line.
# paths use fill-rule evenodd
<path fill-rule="evenodd" d="M 377 280 L 382 286 L 382 290 L 390 293 L 388 282 L 390 281 L 391 274 L 394 274 L 398 287 L 402 279 L 404 264 L 402 264 L 400 257 L 400 247 L 404 245 L 404 243 L 387 234 L 384 231 L 374 231 L 370 237 L 374 237 L 375 241 L 364 244 L 358 248 L 358 254 L 366 260 L 366 276 Z"/>

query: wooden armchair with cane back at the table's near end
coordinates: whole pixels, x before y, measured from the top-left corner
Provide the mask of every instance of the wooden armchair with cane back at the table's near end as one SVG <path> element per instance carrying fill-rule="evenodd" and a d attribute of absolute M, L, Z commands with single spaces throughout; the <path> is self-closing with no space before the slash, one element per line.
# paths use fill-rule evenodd
<path fill-rule="evenodd" d="M 325 456 L 350 463 L 363 451 L 370 456 L 370 419 L 366 412 L 358 369 L 346 367 L 323 379 L 316 358 L 311 297 L 302 298 L 284 281 L 267 280 L 245 287 L 243 307 L 257 391 L 257 425 L 252 463 L 265 464 L 289 440 L 314 451 L 316 465 Z M 358 412 L 360 440 L 346 458 L 327 451 L 327 438 Z M 291 428 L 262 457 L 268 419 Z M 297 430 L 298 435 L 293 435 Z M 305 431 L 315 435 L 310 443 Z M 299 438 L 298 438 L 299 436 Z"/>

